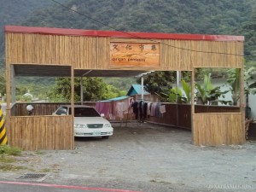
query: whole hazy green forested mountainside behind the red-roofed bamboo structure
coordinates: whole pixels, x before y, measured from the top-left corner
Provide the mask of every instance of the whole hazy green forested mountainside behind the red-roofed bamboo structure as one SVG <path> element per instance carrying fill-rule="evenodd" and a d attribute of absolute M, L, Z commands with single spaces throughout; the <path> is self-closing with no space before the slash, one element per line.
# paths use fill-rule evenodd
<path fill-rule="evenodd" d="M 256 61 L 256 30 L 251 25 L 256 0 L 55 1 L 63 6 L 50 0 L 0 0 L 0 26 L 245 35 L 247 60 Z M 3 53 L 3 33 L 0 45 Z"/>

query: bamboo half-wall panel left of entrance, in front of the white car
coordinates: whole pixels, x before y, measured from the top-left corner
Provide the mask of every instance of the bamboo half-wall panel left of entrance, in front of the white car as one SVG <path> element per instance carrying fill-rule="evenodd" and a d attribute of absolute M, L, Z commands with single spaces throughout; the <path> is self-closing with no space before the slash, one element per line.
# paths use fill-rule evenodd
<path fill-rule="evenodd" d="M 9 145 L 22 150 L 74 148 L 72 116 L 15 116 L 9 118 Z"/>

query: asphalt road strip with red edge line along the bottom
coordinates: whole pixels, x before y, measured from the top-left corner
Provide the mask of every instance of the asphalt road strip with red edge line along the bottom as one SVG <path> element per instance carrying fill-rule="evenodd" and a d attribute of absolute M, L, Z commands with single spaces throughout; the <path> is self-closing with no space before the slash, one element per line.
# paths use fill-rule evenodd
<path fill-rule="evenodd" d="M 121 180 L 115 180 L 109 182 L 109 180 L 98 178 L 94 179 L 94 182 L 90 183 L 79 183 L 70 181 L 67 184 L 60 182 L 55 183 L 54 181 L 48 183 L 32 183 L 32 182 L 17 182 L 17 181 L 0 181 L 0 191 L 5 192 L 198 192 L 198 189 L 190 189 L 184 186 L 166 186 L 164 183 L 137 183 L 137 182 L 126 182 Z M 71 184 L 74 183 L 74 184 Z M 91 186 L 92 183 L 96 185 Z M 88 184 L 88 185 L 86 185 Z M 100 186 L 105 187 L 100 187 Z M 140 189 L 140 190 L 137 190 Z M 212 191 L 212 190 L 205 190 Z"/>

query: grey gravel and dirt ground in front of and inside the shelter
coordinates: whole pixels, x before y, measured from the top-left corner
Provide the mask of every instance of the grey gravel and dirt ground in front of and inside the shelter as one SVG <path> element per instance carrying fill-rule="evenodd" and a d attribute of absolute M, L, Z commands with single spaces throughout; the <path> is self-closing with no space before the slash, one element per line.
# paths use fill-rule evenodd
<path fill-rule="evenodd" d="M 139 191 L 256 191 L 256 143 L 204 147 L 190 131 L 148 123 L 113 124 L 109 139 L 80 138 L 68 151 L 24 151 L 25 170 L 1 172 L 19 179 L 44 172 L 40 182 Z M 44 181 L 43 181 L 44 180 Z"/>

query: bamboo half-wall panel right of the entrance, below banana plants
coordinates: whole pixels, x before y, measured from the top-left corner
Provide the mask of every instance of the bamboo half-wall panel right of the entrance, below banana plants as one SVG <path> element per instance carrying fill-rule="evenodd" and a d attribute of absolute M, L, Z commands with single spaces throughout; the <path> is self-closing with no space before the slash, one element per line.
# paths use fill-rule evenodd
<path fill-rule="evenodd" d="M 195 145 L 220 146 L 245 143 L 245 125 L 241 113 L 193 114 Z"/>

